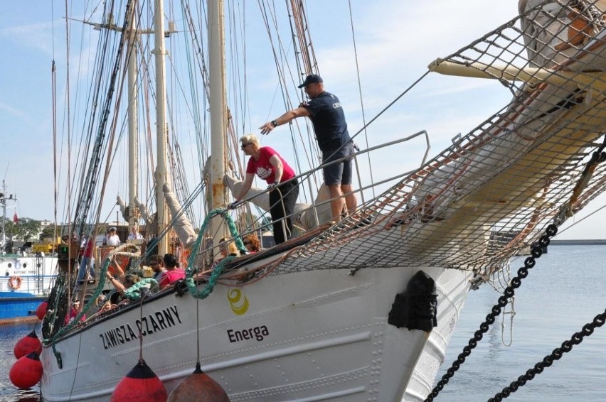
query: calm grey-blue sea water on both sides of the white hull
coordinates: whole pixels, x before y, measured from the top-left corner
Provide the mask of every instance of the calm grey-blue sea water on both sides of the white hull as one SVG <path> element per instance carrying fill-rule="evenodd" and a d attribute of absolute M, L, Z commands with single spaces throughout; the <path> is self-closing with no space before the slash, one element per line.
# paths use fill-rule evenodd
<path fill-rule="evenodd" d="M 515 274 L 523 259 L 511 263 Z M 606 308 L 606 246 L 554 245 L 536 260 L 516 290 L 513 325 L 497 317 L 435 401 L 487 401 L 526 373 Z M 499 293 L 482 286 L 469 293 L 437 380 L 450 367 Z M 504 310 L 510 311 L 510 305 Z M 39 401 L 39 390 L 19 391 L 9 381 L 14 344 L 32 325 L 0 327 L 0 401 Z M 39 335 L 39 330 L 38 330 Z M 606 325 L 575 345 L 506 401 L 606 401 Z"/>

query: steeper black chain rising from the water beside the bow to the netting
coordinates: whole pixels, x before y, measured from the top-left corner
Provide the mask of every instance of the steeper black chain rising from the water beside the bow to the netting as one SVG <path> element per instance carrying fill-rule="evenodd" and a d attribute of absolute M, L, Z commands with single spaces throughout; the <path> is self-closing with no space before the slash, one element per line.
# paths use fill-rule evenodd
<path fill-rule="evenodd" d="M 558 227 L 555 226 L 555 224 L 550 224 L 545 232 L 546 234 L 543 234 L 541 239 L 531 246 L 531 256 L 524 260 L 524 266 L 519 268 L 518 274 L 511 279 L 511 285 L 505 288 L 503 295 L 499 297 L 496 305 L 492 307 L 491 313 L 489 313 L 489 315 L 486 316 L 486 320 L 480 324 L 480 329 L 474 332 L 474 337 L 469 339 L 467 346 L 463 348 L 463 352 L 459 354 L 457 360 L 452 362 L 450 369 L 446 371 L 446 374 L 442 376 L 442 379 L 440 379 L 440 381 L 425 399 L 426 402 L 433 401 L 437 394 L 442 391 L 444 386 L 448 384 L 448 381 L 452 378 L 452 376 L 454 376 L 454 373 L 459 369 L 461 364 L 465 362 L 465 359 L 469 356 L 469 354 L 472 354 L 472 349 L 477 346 L 477 342 L 482 340 L 484 334 L 488 332 L 490 325 L 492 325 L 496 317 L 501 314 L 501 308 L 504 308 L 507 305 L 507 300 L 514 296 L 514 289 L 521 286 L 521 280 L 528 276 L 528 270 L 535 266 L 536 259 L 543 255 L 543 248 L 547 247 L 551 241 L 551 237 L 554 237 L 555 234 L 558 233 Z"/>

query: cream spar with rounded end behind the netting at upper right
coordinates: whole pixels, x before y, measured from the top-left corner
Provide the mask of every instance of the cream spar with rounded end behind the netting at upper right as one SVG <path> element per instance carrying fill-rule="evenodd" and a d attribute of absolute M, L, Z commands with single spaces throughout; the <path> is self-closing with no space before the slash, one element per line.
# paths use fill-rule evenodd
<path fill-rule="evenodd" d="M 436 59 L 427 68 L 432 72 L 459 77 L 523 81 L 531 85 L 536 85 L 538 82 L 548 82 L 553 85 L 575 82 L 583 87 L 590 85 L 596 89 L 606 88 L 606 82 L 602 79 L 604 72 L 570 72 L 536 67 L 519 68 L 514 65 L 485 65 L 477 62 L 460 64 L 442 59 Z"/>

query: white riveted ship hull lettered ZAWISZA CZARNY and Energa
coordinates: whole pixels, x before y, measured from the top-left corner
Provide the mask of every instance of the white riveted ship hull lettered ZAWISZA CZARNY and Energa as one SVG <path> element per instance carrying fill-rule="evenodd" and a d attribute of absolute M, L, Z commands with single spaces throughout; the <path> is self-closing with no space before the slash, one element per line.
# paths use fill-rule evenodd
<path fill-rule="evenodd" d="M 107 401 L 137 364 L 140 322 L 143 357 L 169 392 L 193 372 L 199 336 L 202 368 L 231 401 L 395 401 L 411 377 L 422 398 L 458 321 L 469 273 L 424 269 L 439 294 L 438 326 L 428 336 L 387 322 L 396 293 L 418 269 L 290 273 L 243 288 L 217 286 L 198 303 L 189 293 L 160 295 L 144 303 L 143 320 L 132 305 L 60 340 L 62 369 L 45 347 L 44 399 Z M 413 374 L 418 360 L 422 373 Z"/>

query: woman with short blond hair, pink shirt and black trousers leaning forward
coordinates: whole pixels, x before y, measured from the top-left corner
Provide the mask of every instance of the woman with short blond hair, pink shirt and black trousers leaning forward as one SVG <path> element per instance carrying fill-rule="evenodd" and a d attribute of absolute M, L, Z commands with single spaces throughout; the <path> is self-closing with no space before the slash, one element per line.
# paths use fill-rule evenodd
<path fill-rule="evenodd" d="M 276 244 L 284 243 L 292 237 L 292 213 L 299 196 L 297 179 L 290 180 L 295 176 L 294 170 L 273 148 L 260 146 L 259 138 L 255 134 L 243 136 L 240 138 L 240 143 L 242 143 L 242 150 L 250 158 L 246 166 L 244 184 L 240 194 L 235 198 L 234 204 L 246 196 L 255 174 L 267 181 L 269 184 L 267 188 L 270 190 L 270 214 L 274 227 L 274 240 Z"/>

